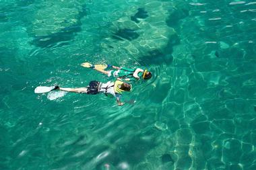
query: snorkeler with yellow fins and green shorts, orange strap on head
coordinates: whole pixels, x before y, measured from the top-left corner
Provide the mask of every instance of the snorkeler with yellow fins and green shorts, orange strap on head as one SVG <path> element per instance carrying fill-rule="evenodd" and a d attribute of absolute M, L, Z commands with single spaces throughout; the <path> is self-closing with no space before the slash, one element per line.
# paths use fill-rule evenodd
<path fill-rule="evenodd" d="M 92 65 L 89 62 L 82 63 L 82 67 L 91 68 L 96 71 L 99 71 L 100 73 L 103 73 L 105 75 L 108 75 L 108 77 L 119 77 L 121 79 L 125 79 L 125 81 L 137 81 L 139 79 L 150 79 L 152 77 L 150 71 L 143 70 L 143 69 L 129 69 L 126 67 L 116 67 L 113 65 Z M 117 69 L 106 71 L 105 69 Z"/>

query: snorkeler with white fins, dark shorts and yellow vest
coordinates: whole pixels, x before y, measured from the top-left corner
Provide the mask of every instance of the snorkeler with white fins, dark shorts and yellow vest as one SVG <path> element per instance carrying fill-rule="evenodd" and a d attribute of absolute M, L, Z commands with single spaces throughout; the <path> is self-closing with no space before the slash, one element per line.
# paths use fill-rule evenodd
<path fill-rule="evenodd" d="M 100 81 L 90 81 L 87 87 L 80 88 L 64 88 L 59 87 L 59 85 L 55 85 L 53 87 L 45 87 L 39 86 L 36 87 L 34 93 L 46 93 L 53 90 L 61 90 L 75 93 L 86 93 L 90 95 L 95 95 L 97 93 L 104 93 L 110 97 L 116 97 L 117 104 L 123 105 L 121 102 L 121 95 L 123 91 L 131 91 L 131 85 L 121 81 L 121 79 L 117 79 L 115 82 L 108 81 L 107 83 L 101 83 Z"/>

